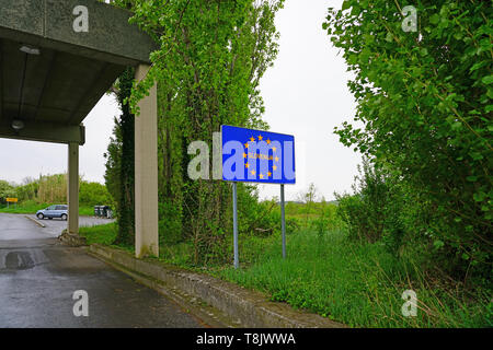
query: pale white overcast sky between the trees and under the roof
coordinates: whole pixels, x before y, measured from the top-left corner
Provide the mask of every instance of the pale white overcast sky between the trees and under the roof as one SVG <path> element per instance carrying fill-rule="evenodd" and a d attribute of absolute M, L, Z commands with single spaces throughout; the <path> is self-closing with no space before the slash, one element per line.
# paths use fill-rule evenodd
<path fill-rule="evenodd" d="M 286 186 L 286 199 L 314 183 L 319 194 L 348 191 L 360 155 L 344 148 L 333 133 L 335 126 L 352 120 L 355 110 L 346 82 L 349 74 L 339 50 L 321 28 L 329 7 L 342 0 L 286 0 L 276 19 L 280 32 L 279 55 L 261 83 L 264 119 L 271 131 L 296 140 L 297 184 Z M 104 96 L 85 118 L 85 144 L 80 148 L 80 173 L 87 180 L 104 183 L 104 158 L 119 115 L 113 96 Z M 219 131 L 219 130 L 218 130 Z M 0 178 L 23 178 L 67 171 L 67 145 L 0 139 Z M 262 185 L 261 197 L 279 195 L 279 186 Z"/>

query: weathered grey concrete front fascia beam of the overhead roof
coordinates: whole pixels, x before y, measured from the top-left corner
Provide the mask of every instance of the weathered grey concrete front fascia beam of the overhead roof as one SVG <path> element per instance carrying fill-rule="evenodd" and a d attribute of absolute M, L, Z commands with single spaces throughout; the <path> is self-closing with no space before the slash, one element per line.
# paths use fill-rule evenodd
<path fill-rule="evenodd" d="M 0 37 L 121 66 L 148 63 L 156 43 L 128 23 L 131 15 L 96 0 L 0 0 Z M 77 28 L 80 21 L 87 28 Z"/>

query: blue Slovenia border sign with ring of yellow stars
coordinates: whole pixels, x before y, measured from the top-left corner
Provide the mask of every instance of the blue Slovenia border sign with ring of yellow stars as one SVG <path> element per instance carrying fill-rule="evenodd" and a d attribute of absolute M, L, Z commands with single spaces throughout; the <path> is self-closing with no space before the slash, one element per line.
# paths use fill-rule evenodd
<path fill-rule="evenodd" d="M 222 179 L 295 184 L 295 137 L 221 126 Z"/>

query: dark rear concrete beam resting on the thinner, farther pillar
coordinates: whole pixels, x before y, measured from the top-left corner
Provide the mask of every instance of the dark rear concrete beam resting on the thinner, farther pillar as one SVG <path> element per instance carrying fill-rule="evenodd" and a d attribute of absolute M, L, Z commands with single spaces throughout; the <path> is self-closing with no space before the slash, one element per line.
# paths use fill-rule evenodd
<path fill-rule="evenodd" d="M 0 124 L 0 138 L 43 142 L 84 144 L 85 128 L 82 125 L 60 125 L 55 122 L 25 121 L 23 129 L 15 131 L 9 122 Z"/>

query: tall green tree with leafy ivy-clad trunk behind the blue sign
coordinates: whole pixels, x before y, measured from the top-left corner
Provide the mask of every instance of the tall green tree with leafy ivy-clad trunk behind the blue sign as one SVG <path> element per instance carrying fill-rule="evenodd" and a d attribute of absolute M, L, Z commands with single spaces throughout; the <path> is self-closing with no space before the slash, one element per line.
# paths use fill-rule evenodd
<path fill-rule="evenodd" d="M 267 127 L 261 120 L 264 107 L 259 84 L 277 55 L 274 16 L 283 2 L 114 2 L 131 10 L 135 15 L 130 21 L 158 43 L 147 78 L 134 82 L 131 95 L 125 95 L 121 103 L 128 102 L 125 105 L 139 117 L 137 102 L 158 84 L 160 241 L 191 242 L 194 265 L 228 258 L 225 234 L 231 232 L 231 189 L 223 182 L 188 178 L 192 155 L 187 147 L 204 140 L 211 150 L 213 132 L 223 124 Z M 122 126 L 117 126 L 107 153 L 106 184 L 112 195 L 117 190 L 111 187 L 126 178 L 116 173 L 123 166 L 122 133 Z M 253 207 L 259 205 L 248 195 L 240 197 L 249 211 L 240 215 L 246 218 L 244 225 L 251 225 Z M 123 201 L 121 195 L 114 198 Z M 244 225 L 240 230 L 250 230 Z"/>

